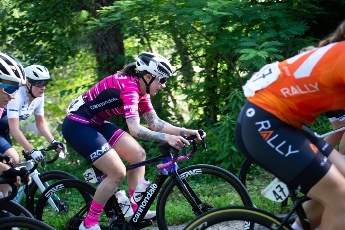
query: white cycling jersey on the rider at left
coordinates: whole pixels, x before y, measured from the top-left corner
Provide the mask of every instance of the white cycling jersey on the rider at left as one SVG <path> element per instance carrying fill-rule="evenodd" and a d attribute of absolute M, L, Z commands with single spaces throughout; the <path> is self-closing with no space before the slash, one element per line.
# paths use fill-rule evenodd
<path fill-rule="evenodd" d="M 8 118 L 19 118 L 26 120 L 35 111 L 35 115 L 44 114 L 44 94 L 40 98 L 35 98 L 28 106 L 29 98 L 26 94 L 26 86 L 19 87 L 16 99 L 11 99 L 3 110 L 0 120 L 0 129 L 7 131 Z"/>

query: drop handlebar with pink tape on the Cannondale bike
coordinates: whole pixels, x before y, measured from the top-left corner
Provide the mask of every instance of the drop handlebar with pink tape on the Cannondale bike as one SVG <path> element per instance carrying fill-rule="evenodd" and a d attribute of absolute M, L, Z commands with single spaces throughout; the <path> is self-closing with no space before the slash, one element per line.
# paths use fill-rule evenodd
<path fill-rule="evenodd" d="M 204 131 L 202 129 L 200 129 L 200 130 L 198 130 L 198 133 L 200 136 L 202 136 Z M 173 146 L 169 145 L 167 142 L 163 142 L 163 143 L 159 144 L 158 147 L 160 148 L 161 151 L 164 151 L 165 149 L 169 150 L 170 148 L 172 148 L 175 153 L 173 155 L 173 159 L 170 162 L 167 162 L 165 164 L 158 164 L 157 165 L 158 170 L 169 167 L 169 166 L 175 164 L 176 161 L 183 161 L 183 160 L 189 159 L 190 157 L 192 157 L 196 153 L 198 146 L 197 146 L 197 143 L 194 141 L 194 139 L 197 138 L 197 136 L 187 137 L 185 134 L 182 134 L 181 136 L 183 136 L 186 140 L 188 140 L 189 143 L 191 143 L 191 145 L 193 146 L 192 150 L 187 154 L 187 147 L 188 146 L 185 144 L 182 148 L 183 156 L 179 157 L 180 151 L 177 150 L 176 148 L 174 148 Z M 207 151 L 205 137 L 202 138 L 201 146 Z"/>

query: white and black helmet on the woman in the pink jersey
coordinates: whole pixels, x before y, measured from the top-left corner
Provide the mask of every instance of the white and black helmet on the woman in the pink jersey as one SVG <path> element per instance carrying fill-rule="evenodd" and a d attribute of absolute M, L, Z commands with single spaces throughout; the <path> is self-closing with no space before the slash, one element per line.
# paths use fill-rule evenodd
<path fill-rule="evenodd" d="M 139 55 L 136 66 L 138 69 L 138 76 L 146 85 L 146 93 L 150 93 L 150 85 L 155 78 L 159 79 L 159 83 L 165 84 L 167 79 L 173 75 L 173 68 L 169 61 L 162 55 L 145 52 Z M 149 73 L 153 76 L 150 82 L 144 79 L 144 74 Z"/>

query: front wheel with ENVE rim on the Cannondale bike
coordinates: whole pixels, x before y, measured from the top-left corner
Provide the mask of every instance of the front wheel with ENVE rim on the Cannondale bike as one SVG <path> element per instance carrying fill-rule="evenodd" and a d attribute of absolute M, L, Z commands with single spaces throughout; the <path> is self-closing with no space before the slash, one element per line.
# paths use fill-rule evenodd
<path fill-rule="evenodd" d="M 201 199 L 202 211 L 230 206 L 252 206 L 251 198 L 240 180 L 230 172 L 213 165 L 193 165 L 179 172 Z M 187 180 L 188 179 L 188 180 Z M 177 201 L 177 202 L 176 202 Z M 192 207 L 169 179 L 157 201 L 157 224 L 160 230 L 172 230 L 196 218 Z"/>

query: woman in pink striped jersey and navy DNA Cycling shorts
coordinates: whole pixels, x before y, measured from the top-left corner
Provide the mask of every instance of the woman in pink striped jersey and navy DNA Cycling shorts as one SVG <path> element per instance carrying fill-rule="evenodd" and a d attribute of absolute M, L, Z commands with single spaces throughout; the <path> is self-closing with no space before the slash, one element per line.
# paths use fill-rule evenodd
<path fill-rule="evenodd" d="M 107 175 L 97 188 L 90 207 L 91 214 L 82 222 L 80 230 L 100 230 L 98 217 L 126 176 L 126 168 L 120 158 L 130 164 L 145 159 L 145 150 L 132 136 L 166 141 L 179 150 L 184 144 L 189 144 L 180 136 L 182 133 L 196 135 L 196 141 L 201 140 L 196 130 L 176 127 L 159 119 L 151 104 L 150 94 L 155 95 L 165 88 L 172 74 L 173 69 L 167 59 L 159 54 L 142 53 L 136 65 L 129 64 L 118 73 L 104 78 L 67 108 L 68 115 L 62 124 L 65 140 Z M 152 131 L 140 124 L 139 109 Z M 125 114 L 130 134 L 108 122 L 110 117 L 120 114 Z M 128 172 L 130 197 L 144 175 L 144 167 Z M 132 207 L 136 210 L 138 205 L 132 204 Z M 154 216 L 156 212 L 149 211 L 144 219 Z"/>

